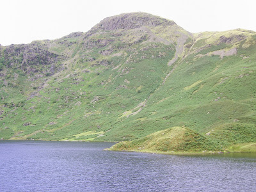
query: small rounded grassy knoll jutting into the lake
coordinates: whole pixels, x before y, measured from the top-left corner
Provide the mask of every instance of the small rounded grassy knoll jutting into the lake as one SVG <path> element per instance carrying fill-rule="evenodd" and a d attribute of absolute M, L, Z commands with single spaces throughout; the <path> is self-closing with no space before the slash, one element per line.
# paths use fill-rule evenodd
<path fill-rule="evenodd" d="M 187 127 L 172 127 L 154 132 L 134 141 L 122 141 L 109 150 L 132 150 L 138 152 L 159 152 L 175 154 L 186 152 L 202 152 L 202 150 L 220 150 L 205 136 Z"/>

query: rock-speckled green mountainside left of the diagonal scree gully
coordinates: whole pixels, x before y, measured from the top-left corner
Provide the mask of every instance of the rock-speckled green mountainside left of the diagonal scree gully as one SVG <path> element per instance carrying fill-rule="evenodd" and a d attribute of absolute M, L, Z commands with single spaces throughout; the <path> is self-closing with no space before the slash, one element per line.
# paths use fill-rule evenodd
<path fill-rule="evenodd" d="M 113 36 L 109 33 L 95 34 L 90 40 L 97 42 L 97 39 L 104 38 L 112 39 Z M 108 47 L 97 48 L 97 45 L 88 53 L 84 53 L 86 51 L 81 46 L 83 42 L 73 47 L 76 52 L 73 58 L 74 52 L 70 49 L 58 49 L 58 51 L 65 50 L 66 54 L 69 53 L 71 59 L 65 63 L 67 70 L 52 77 L 43 77 L 30 82 L 28 77 L 21 80 L 22 72 L 13 69 L 19 77 L 16 81 L 10 78 L 10 81 L 24 84 L 24 87 L 17 87 L 15 90 L 12 86 L 4 83 L 2 85 L 3 93 L 10 94 L 3 99 L 5 104 L 1 121 L 4 127 L 1 128 L 1 136 L 5 139 L 12 136 L 12 139 L 92 140 L 99 136 L 97 132 L 109 131 L 109 125 L 119 121 L 119 114 L 135 108 L 138 103 L 147 99 L 150 92 L 154 92 L 162 82 L 164 72 L 168 70 L 166 63 L 174 54 L 173 45 L 147 42 L 147 39 L 143 45 L 135 39 L 136 43 L 131 51 L 127 49 L 122 51 L 122 48 L 115 47 L 118 41 L 115 38 L 115 42 L 111 42 L 114 47 L 111 55 L 117 53 L 116 56 L 99 54 Z M 61 47 L 62 42 L 61 39 L 52 44 Z M 147 51 L 134 53 L 134 50 L 143 48 Z M 164 51 L 164 57 L 159 56 L 159 51 Z M 149 59 L 143 60 L 142 56 Z M 153 60 L 152 56 L 156 58 Z M 90 58 L 93 60 L 90 61 Z M 127 62 L 128 58 L 132 62 Z M 111 64 L 100 65 L 102 60 L 108 60 Z M 12 76 L 13 71 L 6 70 L 6 73 Z M 152 74 L 153 78 L 150 76 Z M 26 92 L 17 95 L 17 89 Z M 31 93 L 36 93 L 35 97 L 30 97 Z M 90 132 L 91 134 L 76 136 L 88 131 L 96 134 Z"/>

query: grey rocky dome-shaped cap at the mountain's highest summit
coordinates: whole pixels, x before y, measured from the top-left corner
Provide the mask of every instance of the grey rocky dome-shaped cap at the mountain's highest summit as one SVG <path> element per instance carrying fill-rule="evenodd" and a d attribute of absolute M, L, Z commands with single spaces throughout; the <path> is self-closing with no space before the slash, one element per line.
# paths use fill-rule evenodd
<path fill-rule="evenodd" d="M 115 30 L 136 29 L 141 26 L 176 25 L 172 20 L 163 19 L 148 13 L 124 13 L 122 15 L 108 17 L 102 20 L 93 29 Z"/>

